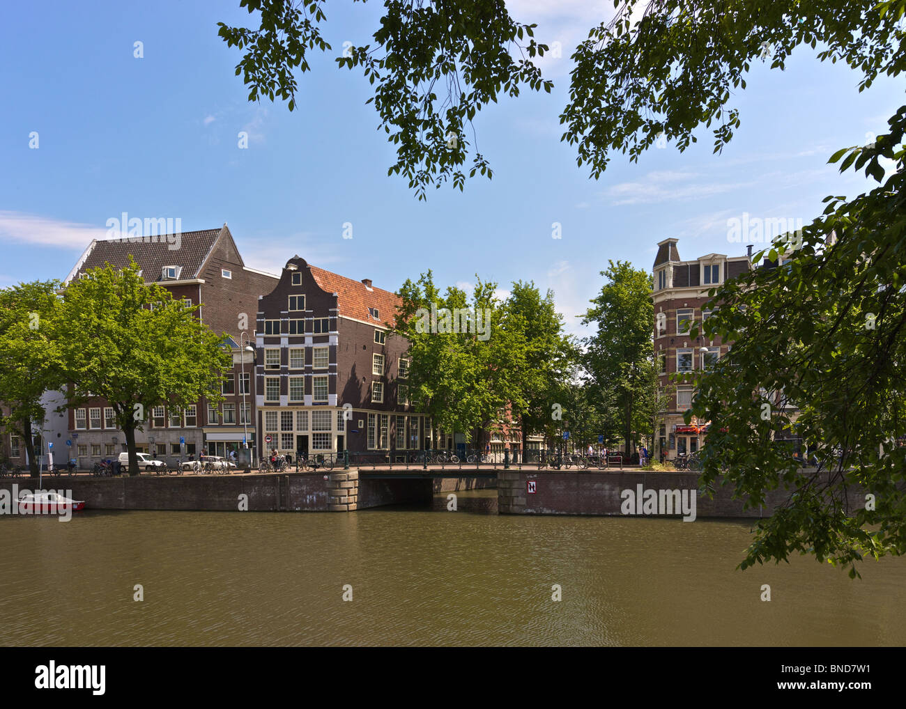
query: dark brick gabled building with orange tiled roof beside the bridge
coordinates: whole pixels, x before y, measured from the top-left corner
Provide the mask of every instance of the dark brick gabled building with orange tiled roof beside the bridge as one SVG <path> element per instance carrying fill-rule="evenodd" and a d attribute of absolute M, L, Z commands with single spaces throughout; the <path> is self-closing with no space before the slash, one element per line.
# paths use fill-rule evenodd
<path fill-rule="evenodd" d="M 350 450 L 401 459 L 426 447 L 429 418 L 412 411 L 406 395 L 408 344 L 388 335 L 398 302 L 369 279 L 324 271 L 300 256 L 286 263 L 275 289 L 258 300 L 259 453 Z M 452 436 L 436 443 L 452 446 Z"/>

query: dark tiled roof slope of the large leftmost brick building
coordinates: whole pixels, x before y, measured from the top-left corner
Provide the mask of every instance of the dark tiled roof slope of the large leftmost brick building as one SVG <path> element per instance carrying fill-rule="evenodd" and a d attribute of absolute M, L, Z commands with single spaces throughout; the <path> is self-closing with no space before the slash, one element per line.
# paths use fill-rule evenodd
<path fill-rule="evenodd" d="M 182 266 L 179 279 L 198 278 L 207 254 L 217 242 L 217 237 L 224 227 L 204 229 L 198 232 L 183 232 L 178 235 L 159 235 L 148 241 L 129 239 L 102 241 L 96 240 L 88 247 L 82 260 L 70 273 L 70 278 L 77 278 L 90 268 L 110 263 L 117 268 L 129 265 L 129 256 L 139 264 L 146 281 L 160 281 L 161 269 L 164 266 Z M 146 237 L 147 238 L 147 237 Z M 152 241 L 153 239 L 153 241 Z M 175 248 L 178 245 L 178 248 Z"/>

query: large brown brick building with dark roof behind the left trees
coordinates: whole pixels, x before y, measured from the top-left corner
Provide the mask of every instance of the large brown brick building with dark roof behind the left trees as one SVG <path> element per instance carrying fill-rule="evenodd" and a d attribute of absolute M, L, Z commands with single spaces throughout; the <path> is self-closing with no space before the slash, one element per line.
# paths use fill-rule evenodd
<path fill-rule="evenodd" d="M 178 248 L 172 248 L 174 243 Z M 258 295 L 270 292 L 277 283 L 276 277 L 246 266 L 224 224 L 219 229 L 184 232 L 178 241 L 167 235 L 134 243 L 92 241 L 64 285 L 104 263 L 123 268 L 129 264 L 130 255 L 147 283 L 166 288 L 174 299 L 200 304 L 198 317 L 218 334 L 226 332 L 230 336 L 226 346 L 234 353 L 233 369 L 226 373 L 223 385 L 226 400 L 209 406 L 207 399 L 202 398 L 181 413 L 167 407 L 153 408 L 144 429 L 136 432 L 138 450 L 174 460 L 198 455 L 205 449 L 214 455 L 226 455 L 227 450 L 242 446 L 246 428 L 249 446 L 254 447 L 254 364 L 251 353 L 245 351 L 254 335 L 246 332 L 244 336 L 242 331 L 249 322 L 255 322 Z M 113 421 L 112 409 L 101 398 L 70 408 L 68 429 L 71 455 L 82 468 L 126 449 L 125 436 Z M 180 438 L 185 441 L 182 450 Z"/>

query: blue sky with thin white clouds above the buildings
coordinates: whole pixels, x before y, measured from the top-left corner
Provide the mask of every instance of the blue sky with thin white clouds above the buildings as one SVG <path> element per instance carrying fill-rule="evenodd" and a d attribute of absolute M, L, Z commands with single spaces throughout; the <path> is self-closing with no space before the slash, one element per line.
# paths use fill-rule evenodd
<path fill-rule="evenodd" d="M 683 258 L 742 254 L 728 218 L 801 218 L 827 195 L 869 183 L 841 176 L 827 158 L 884 132 L 903 102 L 903 82 L 868 91 L 841 64 L 800 50 L 785 72 L 757 65 L 732 105 L 742 125 L 722 155 L 707 129 L 685 153 L 670 145 L 639 163 L 614 155 L 598 180 L 575 167 L 558 115 L 575 43 L 612 13 L 611 2 L 507 3 L 535 22 L 551 94 L 524 92 L 479 114 L 477 146 L 494 179 L 430 190 L 415 199 L 388 177 L 395 152 L 365 101 L 358 72 L 338 70 L 342 43 L 368 43 L 381 4 L 328 3 L 323 34 L 299 77 L 298 108 L 249 103 L 234 74 L 240 53 L 217 22 L 254 22 L 236 2 L 24 3 L 0 8 L 0 286 L 60 278 L 106 222 L 128 212 L 179 217 L 184 231 L 227 222 L 246 263 L 279 272 L 294 254 L 396 290 L 433 269 L 442 284 L 502 292 L 515 280 L 554 290 L 569 330 L 602 285 L 608 259 L 651 268 L 655 244 L 679 238 Z M 144 57 L 133 57 L 133 43 Z M 29 149 L 37 131 L 39 148 Z M 248 149 L 237 147 L 246 131 Z M 342 225 L 352 223 L 352 239 Z M 552 238 L 552 224 L 562 238 Z"/>

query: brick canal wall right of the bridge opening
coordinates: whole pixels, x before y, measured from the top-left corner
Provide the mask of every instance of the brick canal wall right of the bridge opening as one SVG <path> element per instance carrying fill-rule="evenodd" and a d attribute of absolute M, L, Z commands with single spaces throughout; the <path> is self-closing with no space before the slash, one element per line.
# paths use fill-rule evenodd
<path fill-rule="evenodd" d="M 534 482 L 534 493 L 529 483 Z M 696 491 L 696 517 L 769 517 L 789 498 L 786 490 L 766 493 L 765 506 L 746 508 L 744 501 L 732 498 L 731 487 L 715 484 L 713 499 L 699 495 L 698 473 L 623 472 L 544 472 L 499 471 L 497 510 L 501 514 L 589 514 L 623 516 L 622 491 L 631 490 Z M 863 504 L 863 491 L 853 490 L 849 499 Z M 641 503 L 640 503 L 641 505 Z M 637 516 L 632 514 L 631 516 Z"/>

